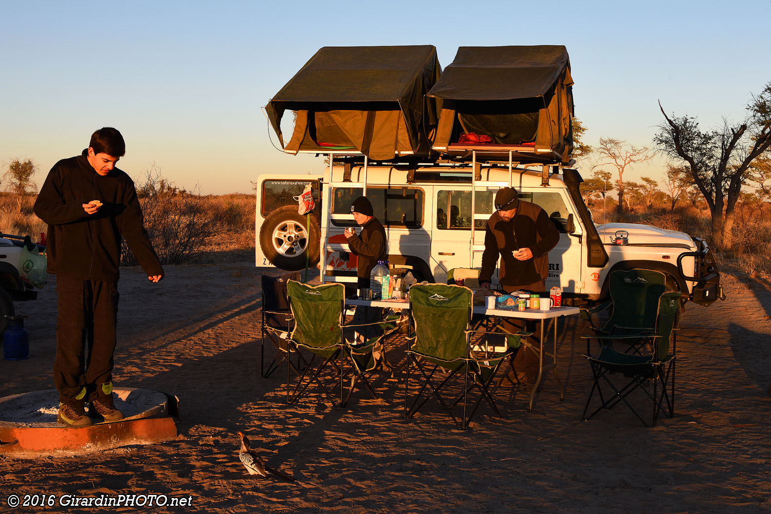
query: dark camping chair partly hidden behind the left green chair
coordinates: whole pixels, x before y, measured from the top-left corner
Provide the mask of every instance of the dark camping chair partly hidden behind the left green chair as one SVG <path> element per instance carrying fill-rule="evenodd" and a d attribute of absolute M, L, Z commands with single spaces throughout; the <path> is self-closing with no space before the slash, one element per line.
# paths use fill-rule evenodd
<path fill-rule="evenodd" d="M 275 371 L 284 357 L 287 355 L 286 338 L 289 331 L 289 302 L 287 300 L 287 281 L 299 281 L 300 273 L 286 274 L 281 277 L 270 277 L 262 275 L 262 346 L 260 349 L 260 375 L 262 378 L 268 378 Z M 278 348 L 278 354 L 268 365 L 267 371 L 265 364 L 265 338 Z M 291 364 L 289 364 L 292 366 Z M 295 371 L 296 368 L 295 368 Z"/>

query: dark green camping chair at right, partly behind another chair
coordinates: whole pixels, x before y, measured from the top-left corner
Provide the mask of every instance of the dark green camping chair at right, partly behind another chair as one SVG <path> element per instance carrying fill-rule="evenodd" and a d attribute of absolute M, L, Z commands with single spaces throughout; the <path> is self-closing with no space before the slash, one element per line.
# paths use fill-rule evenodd
<path fill-rule="evenodd" d="M 593 336 L 582 336 L 587 339 L 587 354 L 591 354 L 589 343 L 593 338 L 624 341 L 628 350 L 640 354 L 655 333 L 658 298 L 665 291 L 665 280 L 660 271 L 613 271 L 608 278 L 611 299 L 591 309 L 581 309 L 581 317 L 594 331 Z M 595 324 L 591 314 L 599 314 L 608 307 L 611 309 L 608 321 L 601 326 Z"/>

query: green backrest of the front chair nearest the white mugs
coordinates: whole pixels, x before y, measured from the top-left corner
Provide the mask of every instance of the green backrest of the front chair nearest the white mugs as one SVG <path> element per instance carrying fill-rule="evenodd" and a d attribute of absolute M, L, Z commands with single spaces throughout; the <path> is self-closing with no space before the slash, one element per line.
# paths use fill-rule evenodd
<path fill-rule="evenodd" d="M 415 322 L 412 351 L 443 361 L 466 358 L 473 297 L 467 287 L 444 284 L 414 285 L 409 308 Z"/>

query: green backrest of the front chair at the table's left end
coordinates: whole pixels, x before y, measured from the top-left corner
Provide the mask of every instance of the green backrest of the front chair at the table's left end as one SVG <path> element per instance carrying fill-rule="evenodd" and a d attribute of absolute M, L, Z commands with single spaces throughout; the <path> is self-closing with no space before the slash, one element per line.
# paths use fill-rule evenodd
<path fill-rule="evenodd" d="M 342 344 L 343 284 L 311 286 L 288 281 L 289 308 L 295 318 L 289 337 L 310 348 Z"/>

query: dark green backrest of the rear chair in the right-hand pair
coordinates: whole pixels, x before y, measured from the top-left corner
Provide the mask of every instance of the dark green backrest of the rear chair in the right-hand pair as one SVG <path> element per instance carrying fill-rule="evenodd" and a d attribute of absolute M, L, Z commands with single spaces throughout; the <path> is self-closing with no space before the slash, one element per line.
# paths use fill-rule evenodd
<path fill-rule="evenodd" d="M 666 290 L 660 271 L 616 270 L 610 276 L 613 313 L 606 327 L 654 331 L 658 299 Z"/>

